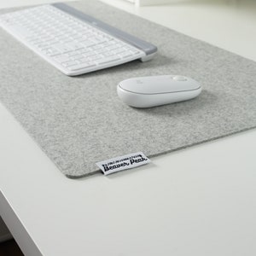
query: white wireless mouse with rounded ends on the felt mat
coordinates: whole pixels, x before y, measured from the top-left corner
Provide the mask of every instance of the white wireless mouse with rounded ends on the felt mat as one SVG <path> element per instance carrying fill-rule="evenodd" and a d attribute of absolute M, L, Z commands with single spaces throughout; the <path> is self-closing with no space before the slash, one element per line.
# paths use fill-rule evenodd
<path fill-rule="evenodd" d="M 201 93 L 201 85 L 179 75 L 151 76 L 121 81 L 117 93 L 131 107 L 151 108 L 195 98 Z"/>

